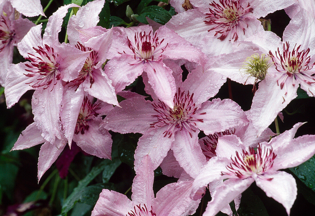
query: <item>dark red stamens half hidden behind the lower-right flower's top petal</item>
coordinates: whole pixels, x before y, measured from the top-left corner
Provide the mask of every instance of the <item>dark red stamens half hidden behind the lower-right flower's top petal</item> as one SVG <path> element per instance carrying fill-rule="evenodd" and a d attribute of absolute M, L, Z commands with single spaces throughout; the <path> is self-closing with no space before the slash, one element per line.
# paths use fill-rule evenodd
<path fill-rule="evenodd" d="M 202 153 L 206 156 L 206 158 L 210 159 L 212 157 L 216 156 L 215 149 L 218 144 L 219 137 L 225 136 L 225 135 L 231 135 L 234 134 L 235 129 L 233 130 L 225 130 L 223 132 L 218 132 L 214 134 L 210 134 L 206 137 L 204 137 L 203 143 L 200 143 Z"/>

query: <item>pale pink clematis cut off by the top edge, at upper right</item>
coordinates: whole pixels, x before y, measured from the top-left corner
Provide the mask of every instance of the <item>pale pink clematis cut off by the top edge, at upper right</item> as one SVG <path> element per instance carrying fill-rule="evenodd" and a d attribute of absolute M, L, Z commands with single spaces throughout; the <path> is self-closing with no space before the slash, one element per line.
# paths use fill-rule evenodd
<path fill-rule="evenodd" d="M 173 16 L 166 26 L 205 51 L 209 49 L 205 46 L 205 41 L 214 40 L 216 46 L 218 43 L 220 46 L 228 46 L 231 41 L 243 40 L 264 31 L 257 19 L 286 8 L 294 1 L 190 0 L 190 3 L 198 9 Z"/>

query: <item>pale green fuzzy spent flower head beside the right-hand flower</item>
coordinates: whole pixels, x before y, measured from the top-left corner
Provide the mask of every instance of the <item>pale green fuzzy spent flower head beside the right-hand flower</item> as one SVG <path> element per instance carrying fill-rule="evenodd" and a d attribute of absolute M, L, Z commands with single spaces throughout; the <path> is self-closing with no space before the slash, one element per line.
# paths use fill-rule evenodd
<path fill-rule="evenodd" d="M 273 62 L 268 63 L 271 58 L 265 54 L 259 56 L 257 53 L 247 57 L 242 65 L 243 73 L 255 77 L 255 83 L 266 78 L 267 70 Z"/>

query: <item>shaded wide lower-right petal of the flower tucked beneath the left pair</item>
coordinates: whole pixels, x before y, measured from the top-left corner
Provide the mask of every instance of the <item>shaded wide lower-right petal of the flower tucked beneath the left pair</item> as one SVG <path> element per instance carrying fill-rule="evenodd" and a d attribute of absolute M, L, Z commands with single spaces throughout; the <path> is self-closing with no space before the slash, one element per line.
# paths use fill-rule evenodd
<path fill-rule="evenodd" d="M 102 118 L 98 117 L 89 121 L 89 129 L 84 134 L 73 135 L 73 141 L 86 153 L 99 158 L 111 159 L 112 136 L 109 132 L 100 127 Z"/>

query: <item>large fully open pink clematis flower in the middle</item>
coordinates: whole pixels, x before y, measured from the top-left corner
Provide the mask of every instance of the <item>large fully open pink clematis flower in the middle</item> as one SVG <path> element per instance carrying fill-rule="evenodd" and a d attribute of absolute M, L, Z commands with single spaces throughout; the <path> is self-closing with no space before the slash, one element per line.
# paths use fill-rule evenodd
<path fill-rule="evenodd" d="M 148 154 L 157 168 L 172 149 L 180 166 L 194 177 L 206 162 L 198 145 L 199 130 L 211 134 L 248 122 L 232 100 L 207 101 L 224 82 L 225 78 L 217 73 L 203 72 L 198 67 L 179 85 L 173 107 L 159 99 L 123 100 L 122 108 L 114 107 L 106 116 L 104 127 L 114 132 L 143 134 L 135 150 L 136 167 Z"/>

